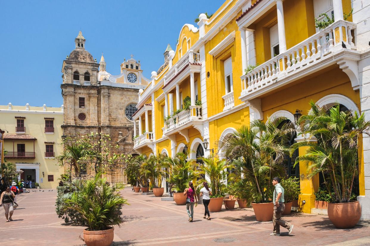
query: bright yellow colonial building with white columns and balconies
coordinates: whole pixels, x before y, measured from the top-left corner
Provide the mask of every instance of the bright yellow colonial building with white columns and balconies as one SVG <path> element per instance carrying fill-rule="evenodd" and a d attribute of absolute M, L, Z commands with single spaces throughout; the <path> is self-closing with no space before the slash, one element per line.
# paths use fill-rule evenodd
<path fill-rule="evenodd" d="M 314 22 L 323 20 L 321 13 L 334 16 L 323 30 Z M 175 50 L 166 49 L 164 65 L 139 92 L 134 149 L 173 156 L 188 146 L 190 158 L 208 156 L 209 149 L 222 157 L 219 138 L 253 119 L 294 122 L 296 110 L 310 110 L 310 100 L 369 114 L 367 18 L 369 11 L 351 0 L 228 0 L 211 18 L 201 14 L 196 27 L 182 27 Z M 364 138 L 355 182 L 362 219 L 370 219 L 369 151 Z M 319 179 L 307 179 L 305 166 L 293 164 L 287 158 L 288 174 L 300 178 L 299 208 L 314 212 Z"/>

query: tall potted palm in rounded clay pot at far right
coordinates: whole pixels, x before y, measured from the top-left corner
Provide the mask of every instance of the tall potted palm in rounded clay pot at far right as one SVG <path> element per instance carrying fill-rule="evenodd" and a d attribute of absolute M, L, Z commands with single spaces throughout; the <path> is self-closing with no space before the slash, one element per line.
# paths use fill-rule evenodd
<path fill-rule="evenodd" d="M 308 147 L 306 154 L 297 157 L 311 170 L 307 177 L 325 174 L 327 190 L 333 189 L 332 203 L 328 204 L 330 221 L 337 228 L 352 228 L 359 221 L 361 206 L 351 201 L 354 177 L 358 174 L 359 137 L 370 135 L 370 122 L 364 114 L 341 111 L 339 105 L 329 110 L 310 102 L 312 112 L 299 118 L 300 134 L 317 138 L 317 142 L 298 142 L 290 154 L 300 147 Z"/>

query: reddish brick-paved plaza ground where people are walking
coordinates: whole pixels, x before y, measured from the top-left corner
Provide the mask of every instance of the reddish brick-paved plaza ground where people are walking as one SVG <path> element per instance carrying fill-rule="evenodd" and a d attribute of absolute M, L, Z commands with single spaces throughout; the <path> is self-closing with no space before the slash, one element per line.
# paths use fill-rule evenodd
<path fill-rule="evenodd" d="M 327 216 L 293 213 L 284 219 L 295 225 L 288 236 L 269 236 L 272 222 L 257 222 L 252 208 L 211 213 L 212 220 L 203 219 L 203 205 L 195 208 L 194 222 L 188 222 L 185 206 L 161 201 L 154 195 L 134 193 L 125 188 L 122 194 L 130 206 L 123 209 L 124 224 L 115 228 L 113 245 L 370 245 L 370 227 L 336 229 Z M 5 245 L 84 245 L 78 237 L 84 227 L 65 225 L 55 214 L 56 191 L 44 190 L 18 197 L 20 207 L 14 211 L 13 222 L 0 219 Z M 3 213 L 1 207 L 1 213 Z M 228 221 L 223 217 L 239 218 Z M 233 242 L 215 242 L 231 238 Z M 304 242 L 304 243 L 303 243 Z"/>

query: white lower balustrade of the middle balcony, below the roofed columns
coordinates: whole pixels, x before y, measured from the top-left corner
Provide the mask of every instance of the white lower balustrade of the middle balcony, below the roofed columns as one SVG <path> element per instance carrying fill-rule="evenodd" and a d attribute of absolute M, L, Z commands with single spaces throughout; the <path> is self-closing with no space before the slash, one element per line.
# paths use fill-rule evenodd
<path fill-rule="evenodd" d="M 178 114 L 172 116 L 167 121 L 165 121 L 164 134 L 182 125 L 185 125 L 188 122 L 191 122 L 193 119 L 202 119 L 201 110 L 201 106 L 193 106 L 188 110 L 183 110 Z"/>

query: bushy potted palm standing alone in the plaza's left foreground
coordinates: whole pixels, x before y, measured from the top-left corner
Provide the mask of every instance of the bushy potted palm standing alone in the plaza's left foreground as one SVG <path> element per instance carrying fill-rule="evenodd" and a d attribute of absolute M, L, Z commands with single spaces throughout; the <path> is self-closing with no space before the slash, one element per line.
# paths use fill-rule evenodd
<path fill-rule="evenodd" d="M 110 186 L 98 172 L 94 179 L 75 182 L 77 191 L 71 199 L 66 199 L 66 207 L 72 209 L 85 219 L 88 226 L 84 230 L 84 242 L 87 246 L 109 246 L 113 242 L 114 228 L 122 223 L 121 208 L 128 204 L 118 190 L 124 188 L 121 183 Z"/>

